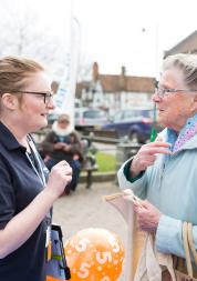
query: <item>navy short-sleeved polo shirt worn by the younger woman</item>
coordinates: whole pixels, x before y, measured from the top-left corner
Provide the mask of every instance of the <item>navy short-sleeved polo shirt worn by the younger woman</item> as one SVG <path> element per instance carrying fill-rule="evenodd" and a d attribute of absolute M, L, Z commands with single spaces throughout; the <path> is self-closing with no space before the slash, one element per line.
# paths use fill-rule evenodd
<path fill-rule="evenodd" d="M 42 189 L 43 184 L 25 155 L 25 148 L 0 122 L 0 229 L 29 205 Z M 0 259 L 1 281 L 45 281 L 45 228 L 43 220 L 27 242 Z"/>

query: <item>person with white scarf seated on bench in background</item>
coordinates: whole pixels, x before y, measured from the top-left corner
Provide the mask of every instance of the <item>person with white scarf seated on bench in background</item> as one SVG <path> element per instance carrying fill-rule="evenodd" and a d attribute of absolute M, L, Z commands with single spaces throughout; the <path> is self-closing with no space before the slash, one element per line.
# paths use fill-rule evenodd
<path fill-rule="evenodd" d="M 52 169 L 61 160 L 65 160 L 73 169 L 73 178 L 66 187 L 65 193 L 75 191 L 81 172 L 82 142 L 79 134 L 70 127 L 70 117 L 60 114 L 58 121 L 52 126 L 52 130 L 46 134 L 41 143 L 45 165 Z"/>

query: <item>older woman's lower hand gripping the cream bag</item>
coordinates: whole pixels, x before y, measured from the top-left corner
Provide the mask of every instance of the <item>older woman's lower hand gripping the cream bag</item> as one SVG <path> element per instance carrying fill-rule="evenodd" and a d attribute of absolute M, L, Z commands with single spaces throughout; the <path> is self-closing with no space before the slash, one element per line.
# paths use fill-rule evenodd
<path fill-rule="evenodd" d="M 134 204 L 134 212 L 137 217 L 138 227 L 143 231 L 155 232 L 162 213 L 147 200 L 141 201 L 141 203 L 143 207 Z"/>

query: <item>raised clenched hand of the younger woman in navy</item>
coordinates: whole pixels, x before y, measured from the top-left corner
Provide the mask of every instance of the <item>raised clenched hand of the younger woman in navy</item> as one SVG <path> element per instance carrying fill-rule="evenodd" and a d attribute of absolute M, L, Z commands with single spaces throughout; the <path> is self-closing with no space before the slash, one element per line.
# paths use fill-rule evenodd
<path fill-rule="evenodd" d="M 72 168 L 66 161 L 55 164 L 49 175 L 46 188 L 58 198 L 62 194 L 68 183 L 72 180 Z"/>

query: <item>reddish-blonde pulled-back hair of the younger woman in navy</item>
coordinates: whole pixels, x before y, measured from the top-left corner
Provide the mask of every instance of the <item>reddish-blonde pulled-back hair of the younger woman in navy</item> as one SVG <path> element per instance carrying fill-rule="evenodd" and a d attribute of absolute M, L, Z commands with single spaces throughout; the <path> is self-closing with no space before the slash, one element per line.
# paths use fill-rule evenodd
<path fill-rule="evenodd" d="M 0 94 L 23 89 L 27 86 L 25 78 L 40 71 L 44 71 L 44 68 L 28 58 L 0 59 Z"/>

